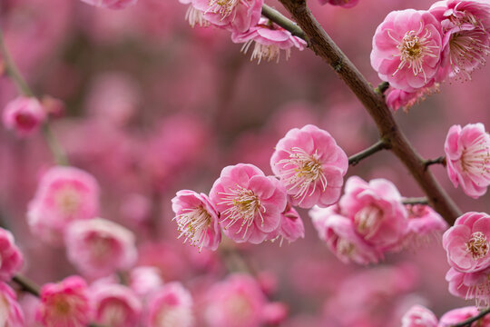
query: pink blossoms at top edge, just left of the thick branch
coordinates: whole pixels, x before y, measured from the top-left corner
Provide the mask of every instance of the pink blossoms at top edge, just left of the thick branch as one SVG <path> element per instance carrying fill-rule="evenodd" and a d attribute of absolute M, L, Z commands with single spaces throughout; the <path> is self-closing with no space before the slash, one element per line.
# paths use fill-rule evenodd
<path fill-rule="evenodd" d="M 251 60 L 276 60 L 281 51 L 289 58 L 293 47 L 303 50 L 306 42 L 291 35 L 284 28 L 261 17 L 263 0 L 180 0 L 189 5 L 186 19 L 193 27 L 214 26 L 231 34 L 231 41 L 243 44 L 241 51 L 247 53 L 253 46 Z"/>

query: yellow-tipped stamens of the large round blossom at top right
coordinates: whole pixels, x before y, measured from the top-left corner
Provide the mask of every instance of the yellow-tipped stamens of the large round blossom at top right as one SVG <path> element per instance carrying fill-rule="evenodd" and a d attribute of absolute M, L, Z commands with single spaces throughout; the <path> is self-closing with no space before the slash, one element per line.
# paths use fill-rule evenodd
<path fill-rule="evenodd" d="M 407 65 L 408 69 L 412 69 L 415 76 L 423 74 L 424 79 L 427 79 L 426 71 L 424 70 L 424 62 L 426 57 L 437 57 L 437 55 L 434 54 L 434 49 L 436 49 L 437 46 L 429 45 L 431 41 L 430 36 L 432 35 L 429 30 L 426 29 L 426 33 L 424 35 L 421 34 L 422 23 L 418 31 L 408 31 L 401 41 L 391 36 L 388 31 L 389 37 L 398 43 L 397 48 L 400 52 L 399 54 L 396 54 L 396 56 L 400 57 L 400 64 L 394 74 L 397 74 L 398 71 Z"/>

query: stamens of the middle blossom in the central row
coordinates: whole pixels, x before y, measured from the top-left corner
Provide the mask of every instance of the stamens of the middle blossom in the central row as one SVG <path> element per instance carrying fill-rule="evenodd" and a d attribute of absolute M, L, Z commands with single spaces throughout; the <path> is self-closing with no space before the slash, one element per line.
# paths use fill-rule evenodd
<path fill-rule="evenodd" d="M 229 228 L 241 220 L 240 229 L 237 233 L 240 233 L 241 229 L 245 226 L 245 235 L 257 213 L 259 213 L 263 225 L 264 217 L 262 213 L 265 213 L 266 209 L 260 203 L 259 196 L 253 193 L 253 191 L 237 185 L 236 188 L 230 189 L 228 193 L 220 194 L 224 195 L 223 201 L 220 204 L 228 205 L 228 209 L 221 213 L 230 220 L 230 223 L 225 228 Z"/>

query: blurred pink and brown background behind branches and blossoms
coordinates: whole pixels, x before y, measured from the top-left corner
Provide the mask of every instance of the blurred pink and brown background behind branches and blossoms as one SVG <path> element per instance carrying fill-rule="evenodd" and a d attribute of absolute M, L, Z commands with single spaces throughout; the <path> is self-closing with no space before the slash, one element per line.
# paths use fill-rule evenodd
<path fill-rule="evenodd" d="M 280 9 L 279 3 L 268 5 Z M 309 5 L 351 61 L 377 85 L 369 64 L 374 31 L 392 10 L 427 9 L 426 0 L 361 0 L 352 9 Z M 198 325 L 201 296 L 227 272 L 220 253 L 198 251 L 177 240 L 171 198 L 178 190 L 208 193 L 222 167 L 253 163 L 270 172 L 274 145 L 293 127 L 317 124 L 348 155 L 377 141 L 377 130 L 358 100 L 306 49 L 279 64 L 250 62 L 226 31 L 192 29 L 186 5 L 140 0 L 122 11 L 77 0 L 1 0 L 0 26 L 16 64 L 36 94 L 62 99 L 64 116 L 54 134 L 71 163 L 102 186 L 102 216 L 138 237 L 139 264 L 160 269 L 165 282 L 181 281 L 193 294 Z M 439 94 L 395 114 L 426 158 L 444 154 L 453 124 L 490 127 L 490 74 L 453 81 Z M 0 107 L 17 95 L 0 78 Z M 25 274 L 39 283 L 76 273 L 64 249 L 29 231 L 25 213 L 39 176 L 54 161 L 41 134 L 19 139 L 0 129 L 0 214 L 25 253 Z M 466 211 L 490 212 L 490 195 L 473 200 L 433 166 L 440 183 Z M 423 196 L 389 153 L 351 167 L 348 175 L 383 177 L 404 196 Z M 305 238 L 296 243 L 240 245 L 261 276 L 270 299 L 289 307 L 284 326 L 397 326 L 413 303 L 440 315 L 472 305 L 447 292 L 449 266 L 439 242 L 387 257 L 379 266 L 340 263 L 300 212 Z M 224 247 L 234 246 L 224 241 Z M 30 300 L 24 299 L 25 302 Z"/>

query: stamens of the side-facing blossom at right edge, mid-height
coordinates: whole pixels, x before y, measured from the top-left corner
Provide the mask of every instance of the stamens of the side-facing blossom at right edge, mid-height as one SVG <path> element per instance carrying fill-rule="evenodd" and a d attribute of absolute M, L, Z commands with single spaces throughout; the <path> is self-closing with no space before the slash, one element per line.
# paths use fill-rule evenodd
<path fill-rule="evenodd" d="M 490 143 L 488 134 L 481 134 L 461 155 L 461 168 L 464 172 L 483 176 L 490 181 Z"/>

